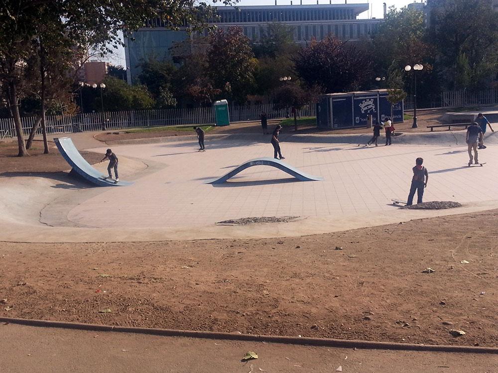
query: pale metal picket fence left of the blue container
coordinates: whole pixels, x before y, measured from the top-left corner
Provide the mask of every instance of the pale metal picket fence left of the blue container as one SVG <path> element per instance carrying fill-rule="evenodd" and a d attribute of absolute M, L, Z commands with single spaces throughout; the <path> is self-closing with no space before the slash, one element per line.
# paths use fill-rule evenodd
<path fill-rule="evenodd" d="M 285 118 L 290 115 L 288 109 L 275 110 L 272 104 L 230 106 L 232 122 L 259 120 L 259 115 L 265 112 L 268 119 Z M 315 105 L 305 105 L 299 110 L 299 116 L 315 116 Z M 36 116 L 21 117 L 22 131 L 27 136 L 38 118 Z M 100 113 L 85 113 L 74 116 L 47 115 L 46 127 L 49 134 L 71 133 L 83 131 L 119 130 L 132 127 L 173 126 L 188 124 L 213 124 L 215 113 L 212 107 L 194 109 L 165 110 L 133 110 Z M 41 127 L 37 134 L 41 134 Z M 15 125 L 12 118 L 0 118 L 0 139 L 15 137 Z"/>

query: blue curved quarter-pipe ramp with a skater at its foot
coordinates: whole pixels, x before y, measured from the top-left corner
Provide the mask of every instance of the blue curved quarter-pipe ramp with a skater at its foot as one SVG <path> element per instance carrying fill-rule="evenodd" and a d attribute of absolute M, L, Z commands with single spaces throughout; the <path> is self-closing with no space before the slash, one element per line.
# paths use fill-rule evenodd
<path fill-rule="evenodd" d="M 54 141 L 62 157 L 73 168 L 73 171 L 90 183 L 99 187 L 125 187 L 133 184 L 121 181 L 115 183 L 113 180 L 106 179 L 106 175 L 97 171 L 82 157 L 70 137 L 59 137 L 55 138 Z"/>

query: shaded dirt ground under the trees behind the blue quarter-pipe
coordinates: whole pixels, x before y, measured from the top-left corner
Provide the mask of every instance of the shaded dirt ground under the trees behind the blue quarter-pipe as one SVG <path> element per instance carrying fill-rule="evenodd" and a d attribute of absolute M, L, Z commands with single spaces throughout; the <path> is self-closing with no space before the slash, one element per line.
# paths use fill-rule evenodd
<path fill-rule="evenodd" d="M 43 142 L 34 141 L 28 150 L 29 157 L 17 157 L 17 142 L 0 142 L 0 175 L 3 173 L 59 172 L 70 170 L 71 166 L 62 158 L 53 142 L 49 143 L 50 153 L 43 154 Z M 90 164 L 99 162 L 103 155 L 81 152 Z"/>

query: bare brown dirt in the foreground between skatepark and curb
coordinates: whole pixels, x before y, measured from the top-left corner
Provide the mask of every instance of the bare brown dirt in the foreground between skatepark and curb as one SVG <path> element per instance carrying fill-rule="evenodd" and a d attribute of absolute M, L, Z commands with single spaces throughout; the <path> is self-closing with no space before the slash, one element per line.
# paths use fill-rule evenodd
<path fill-rule="evenodd" d="M 497 216 L 299 238 L 1 243 L 0 315 L 497 347 Z"/>

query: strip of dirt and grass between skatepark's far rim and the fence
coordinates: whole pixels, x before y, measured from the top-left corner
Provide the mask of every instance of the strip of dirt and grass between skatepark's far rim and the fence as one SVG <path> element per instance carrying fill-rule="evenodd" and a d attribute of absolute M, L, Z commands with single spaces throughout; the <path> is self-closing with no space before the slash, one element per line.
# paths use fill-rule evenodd
<path fill-rule="evenodd" d="M 417 113 L 418 118 L 418 128 L 411 128 L 413 121 L 411 119 L 405 120 L 403 123 L 396 124 L 396 132 L 428 132 L 427 125 L 430 124 L 439 124 L 438 118 L 444 114 L 447 110 L 424 110 Z M 406 112 L 407 114 L 412 114 L 413 112 Z M 278 124 L 278 120 L 268 121 L 268 127 L 271 129 L 273 126 Z M 455 128 L 459 130 L 458 127 Z M 443 128 L 443 130 L 445 130 Z M 437 129 L 436 129 L 437 131 Z M 120 131 L 114 131 L 120 132 Z M 362 133 L 371 133 L 371 128 L 349 128 L 349 129 L 340 129 L 340 130 L 326 130 L 317 128 L 316 125 L 303 125 L 298 127 L 298 131 L 294 132 L 294 127 L 286 126 L 283 129 L 283 132 L 286 134 L 321 134 L 321 135 L 343 135 L 343 134 L 362 134 Z M 212 129 L 211 131 L 206 133 L 206 136 L 215 134 L 259 134 L 261 133 L 261 125 L 258 121 L 254 122 L 241 122 L 241 123 L 233 123 L 227 127 L 217 127 Z M 124 133 L 113 133 L 111 131 L 103 132 L 96 136 L 96 139 L 100 141 L 119 141 L 119 140 L 132 140 L 132 139 L 145 139 L 145 138 L 154 138 L 154 137 L 169 137 L 169 136 L 185 136 L 192 135 L 195 136 L 194 131 L 185 132 L 185 131 L 150 131 L 150 132 L 130 132 Z"/>

